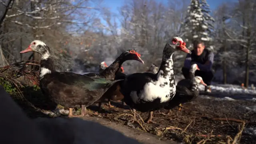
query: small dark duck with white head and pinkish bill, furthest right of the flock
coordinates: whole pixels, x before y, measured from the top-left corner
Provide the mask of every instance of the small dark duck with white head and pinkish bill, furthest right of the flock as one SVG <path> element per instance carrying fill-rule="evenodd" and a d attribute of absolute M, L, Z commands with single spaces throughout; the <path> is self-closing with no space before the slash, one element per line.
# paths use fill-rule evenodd
<path fill-rule="evenodd" d="M 196 99 L 199 95 L 199 88 L 198 85 L 203 84 L 204 86 L 207 86 L 207 84 L 204 83 L 202 77 L 195 76 L 190 80 L 190 86 L 176 86 L 176 94 L 174 98 L 169 101 L 168 105 L 164 106 L 164 109 L 169 110 L 167 114 L 163 114 L 160 111 L 158 111 L 160 114 L 168 115 L 171 114 L 171 109 L 180 106 L 180 104 L 184 104 L 187 102 L 191 102 L 192 100 Z"/>

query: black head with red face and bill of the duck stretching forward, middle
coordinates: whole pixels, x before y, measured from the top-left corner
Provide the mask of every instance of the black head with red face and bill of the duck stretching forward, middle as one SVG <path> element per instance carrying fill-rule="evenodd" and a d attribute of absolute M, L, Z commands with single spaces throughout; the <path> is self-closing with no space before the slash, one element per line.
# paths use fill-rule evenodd
<path fill-rule="evenodd" d="M 122 60 L 137 60 L 139 62 L 141 62 L 142 64 L 144 64 L 143 60 L 140 58 L 140 54 L 134 50 L 134 49 L 129 49 L 129 50 L 126 50 L 125 52 L 123 52 L 121 55 L 120 55 L 120 58 Z"/>

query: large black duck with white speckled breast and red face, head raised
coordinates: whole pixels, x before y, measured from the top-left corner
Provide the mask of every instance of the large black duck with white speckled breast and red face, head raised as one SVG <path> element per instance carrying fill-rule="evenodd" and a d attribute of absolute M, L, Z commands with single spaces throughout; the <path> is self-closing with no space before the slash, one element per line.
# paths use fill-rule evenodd
<path fill-rule="evenodd" d="M 153 111 L 167 105 L 176 93 L 172 55 L 178 50 L 191 54 L 182 38 L 174 36 L 164 47 L 162 62 L 156 74 L 129 74 L 122 82 L 120 91 L 126 105 L 133 111 L 150 112 L 146 123 L 154 123 Z"/>

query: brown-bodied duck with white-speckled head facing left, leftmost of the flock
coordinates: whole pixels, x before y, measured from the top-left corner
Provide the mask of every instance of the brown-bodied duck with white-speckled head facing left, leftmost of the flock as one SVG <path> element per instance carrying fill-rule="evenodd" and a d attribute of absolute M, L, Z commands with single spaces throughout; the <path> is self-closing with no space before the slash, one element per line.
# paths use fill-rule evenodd
<path fill-rule="evenodd" d="M 86 106 L 90 106 L 120 80 L 106 78 L 92 78 L 73 72 L 57 72 L 54 68 L 50 48 L 40 40 L 34 40 L 28 48 L 20 53 L 37 52 L 40 62 L 40 88 L 43 95 L 54 104 L 69 108 L 68 117 L 82 117 L 86 113 Z M 81 105 L 81 114 L 73 115 L 73 108 Z"/>

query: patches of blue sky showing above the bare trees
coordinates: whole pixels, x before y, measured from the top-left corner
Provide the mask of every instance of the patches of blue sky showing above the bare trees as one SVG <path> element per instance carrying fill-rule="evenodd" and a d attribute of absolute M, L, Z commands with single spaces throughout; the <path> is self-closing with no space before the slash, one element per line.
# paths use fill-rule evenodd
<path fill-rule="evenodd" d="M 168 0 L 159 0 L 162 3 L 168 2 Z M 214 11 L 220 4 L 223 2 L 237 2 L 238 0 L 207 0 L 208 4 L 210 5 L 210 9 Z M 101 5 L 110 8 L 110 10 L 116 14 L 118 14 L 118 8 L 120 8 L 126 0 L 103 0 Z M 102 23 L 105 22 L 102 20 Z"/>

